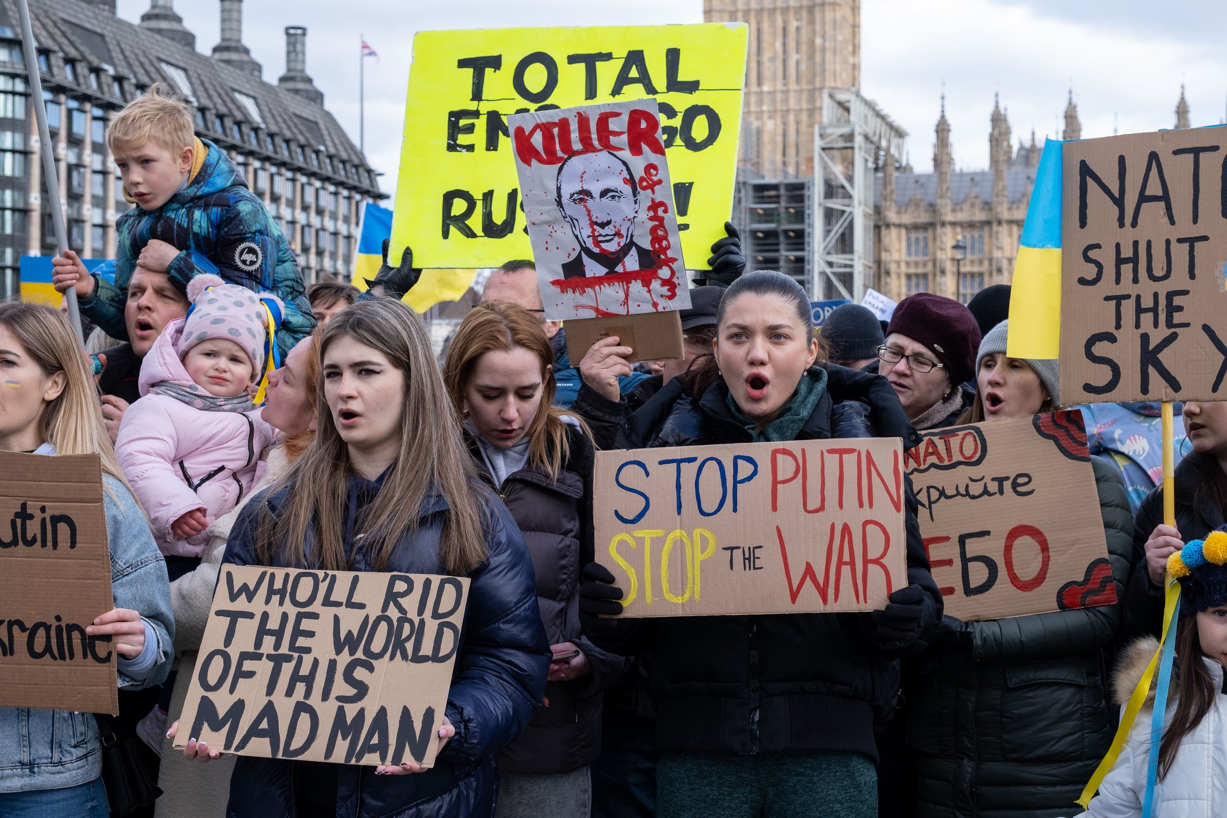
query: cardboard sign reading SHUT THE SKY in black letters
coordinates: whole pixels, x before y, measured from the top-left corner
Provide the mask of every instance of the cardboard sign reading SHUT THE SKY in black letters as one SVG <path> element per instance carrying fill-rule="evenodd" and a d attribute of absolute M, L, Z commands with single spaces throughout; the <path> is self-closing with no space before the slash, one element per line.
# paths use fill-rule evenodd
<path fill-rule="evenodd" d="M 1227 129 L 1063 148 L 1061 403 L 1227 399 Z"/>

